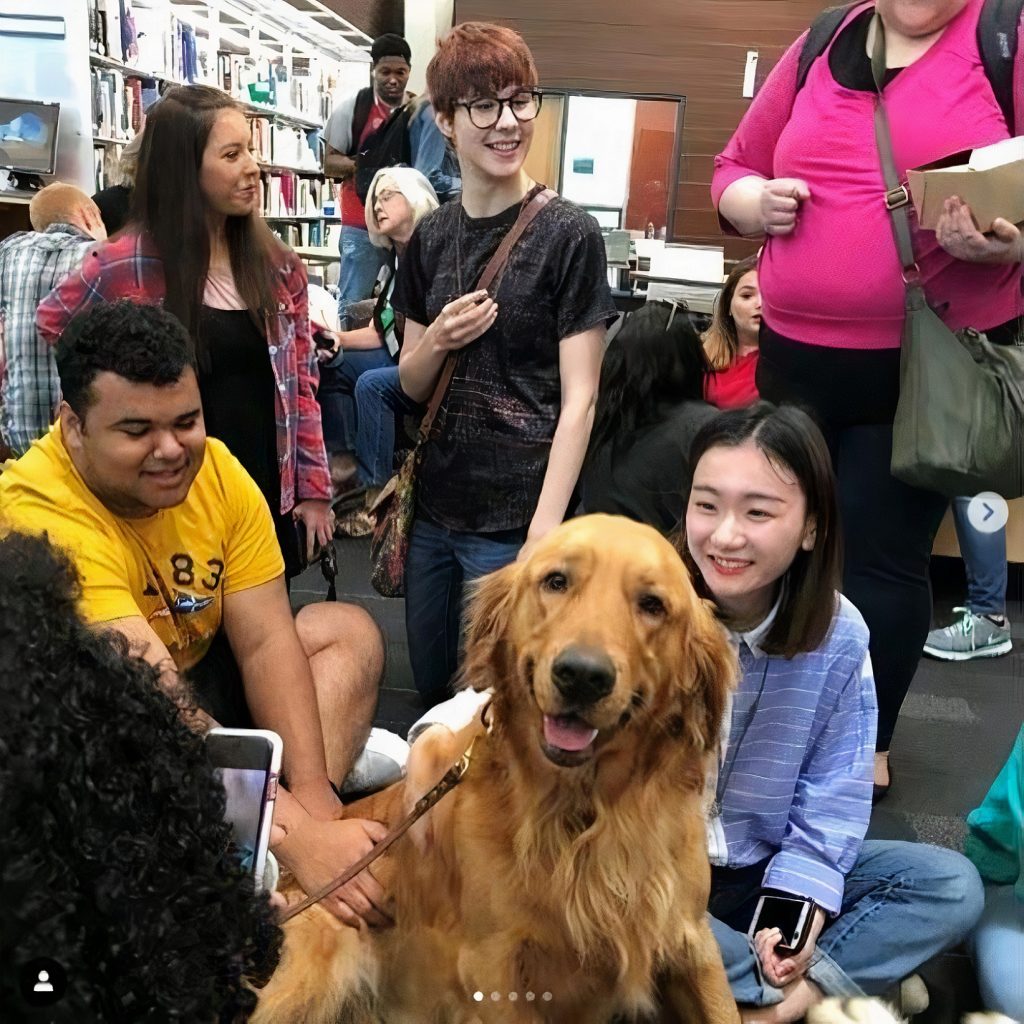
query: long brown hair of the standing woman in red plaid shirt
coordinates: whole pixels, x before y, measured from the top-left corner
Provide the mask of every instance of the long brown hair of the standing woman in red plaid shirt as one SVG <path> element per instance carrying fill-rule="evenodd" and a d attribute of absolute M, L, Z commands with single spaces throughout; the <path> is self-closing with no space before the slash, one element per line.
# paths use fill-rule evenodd
<path fill-rule="evenodd" d="M 164 264 L 166 307 L 187 328 L 200 368 L 210 355 L 200 329 L 203 292 L 210 269 L 206 200 L 200 188 L 203 153 L 222 111 L 242 108 L 205 85 L 169 89 L 146 118 L 131 222 L 148 236 Z M 227 218 L 227 249 L 234 287 L 260 333 L 274 330 L 276 269 L 283 249 L 257 213 Z"/>

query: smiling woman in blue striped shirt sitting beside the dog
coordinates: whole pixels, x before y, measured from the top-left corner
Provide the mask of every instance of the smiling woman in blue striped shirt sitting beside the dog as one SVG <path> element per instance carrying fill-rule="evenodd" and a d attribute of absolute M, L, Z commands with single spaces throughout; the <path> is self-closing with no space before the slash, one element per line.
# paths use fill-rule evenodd
<path fill-rule="evenodd" d="M 710 910 L 744 1021 L 795 1021 L 826 995 L 884 994 L 981 912 L 959 854 L 864 842 L 878 707 L 860 613 L 838 593 L 836 479 L 800 410 L 716 417 L 691 450 L 684 558 L 738 649 L 708 823 Z M 880 512 L 884 514 L 884 511 Z M 778 949 L 763 892 L 809 901 Z M 762 927 L 764 926 L 764 927 Z"/>

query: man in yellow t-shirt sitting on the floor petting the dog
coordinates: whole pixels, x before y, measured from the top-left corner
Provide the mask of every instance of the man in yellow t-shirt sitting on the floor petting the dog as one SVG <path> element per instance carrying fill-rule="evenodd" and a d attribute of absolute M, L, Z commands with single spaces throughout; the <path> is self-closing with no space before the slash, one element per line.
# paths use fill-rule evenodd
<path fill-rule="evenodd" d="M 238 460 L 208 439 L 188 336 L 159 306 L 100 303 L 55 349 L 63 400 L 50 432 L 0 474 L 0 528 L 45 532 L 74 560 L 87 621 L 163 670 L 196 727 L 273 729 L 288 791 L 273 849 L 306 892 L 385 835 L 343 818 L 340 783 L 366 742 L 383 666 L 360 608 L 292 617 L 269 509 Z M 196 702 L 178 673 L 196 681 Z M 228 720 L 223 715 L 226 709 Z M 384 924 L 364 871 L 324 901 Z"/>

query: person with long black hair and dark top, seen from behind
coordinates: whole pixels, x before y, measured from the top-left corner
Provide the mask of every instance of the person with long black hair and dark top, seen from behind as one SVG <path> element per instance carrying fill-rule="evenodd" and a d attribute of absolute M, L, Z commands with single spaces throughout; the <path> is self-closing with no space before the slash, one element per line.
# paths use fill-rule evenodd
<path fill-rule="evenodd" d="M 601 364 L 582 511 L 629 516 L 663 534 L 679 527 L 690 444 L 715 416 L 701 400 L 707 372 L 685 312 L 648 302 L 630 313 Z"/>

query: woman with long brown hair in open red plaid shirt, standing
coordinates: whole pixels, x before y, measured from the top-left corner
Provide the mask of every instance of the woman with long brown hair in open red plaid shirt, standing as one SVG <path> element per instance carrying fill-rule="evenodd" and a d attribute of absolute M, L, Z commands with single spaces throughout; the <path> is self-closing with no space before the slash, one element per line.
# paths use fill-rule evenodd
<path fill-rule="evenodd" d="M 39 307 L 50 342 L 99 300 L 163 303 L 188 329 L 207 433 L 270 506 L 286 572 L 332 534 L 331 478 L 309 333 L 306 272 L 259 215 L 249 122 L 219 89 L 170 89 L 150 112 L 131 217 Z"/>

